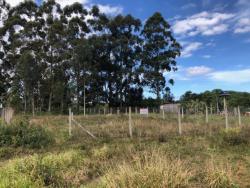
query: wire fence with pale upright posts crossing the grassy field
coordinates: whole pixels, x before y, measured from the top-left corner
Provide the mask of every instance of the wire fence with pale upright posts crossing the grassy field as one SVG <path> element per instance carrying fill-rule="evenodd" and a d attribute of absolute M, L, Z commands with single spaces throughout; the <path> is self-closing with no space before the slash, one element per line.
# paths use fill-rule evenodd
<path fill-rule="evenodd" d="M 233 110 L 232 110 L 233 109 Z M 115 125 L 107 128 L 110 132 L 117 131 L 122 133 L 123 136 L 129 136 L 130 138 L 133 138 L 134 135 L 141 135 L 143 132 L 147 131 L 147 129 L 153 130 L 158 129 L 159 134 L 163 131 L 166 132 L 166 130 L 169 130 L 170 132 L 173 130 L 176 131 L 179 135 L 185 134 L 187 132 L 187 129 L 194 129 L 195 131 L 204 131 L 207 132 L 208 130 L 211 131 L 212 129 L 215 130 L 215 125 L 218 125 L 217 128 L 225 128 L 229 129 L 230 127 L 241 127 L 242 124 L 242 114 L 240 107 L 236 108 L 225 108 L 224 111 L 221 113 L 213 113 L 209 109 L 208 106 L 205 106 L 203 110 L 195 111 L 195 113 L 191 113 L 188 109 L 185 109 L 184 107 L 179 106 L 177 113 L 169 113 L 165 110 L 160 109 L 148 109 L 148 114 L 140 113 L 140 108 L 138 107 L 128 107 L 128 108 L 103 108 L 103 109 L 95 109 L 89 108 L 86 110 L 86 117 L 91 119 L 96 117 L 102 117 L 105 118 L 106 124 L 112 124 L 114 122 L 114 119 L 116 118 Z M 97 112 L 97 113 L 96 113 Z M 71 109 L 69 112 L 69 135 L 72 136 L 72 118 L 71 118 Z M 81 116 L 79 116 L 81 117 Z M 85 123 L 84 119 L 79 118 L 80 122 L 75 121 L 75 124 L 80 127 L 81 129 L 86 132 L 89 136 L 95 137 L 93 135 L 100 134 L 100 127 L 96 127 L 96 130 L 93 129 L 93 127 L 88 126 L 87 123 Z M 119 119 L 122 122 L 119 122 Z M 153 121 L 152 121 L 153 120 Z M 250 118 L 247 118 L 244 116 L 244 125 L 247 125 Z M 109 122 L 110 121 L 110 122 Z M 147 126 L 139 125 L 139 122 L 141 124 L 147 124 Z M 148 125 L 148 123 L 151 122 L 152 125 Z M 198 122 L 198 123 L 197 123 Z M 84 124 L 81 125 L 81 124 Z M 160 126 L 158 126 L 159 124 Z M 201 125 L 200 127 L 196 125 Z M 120 125 L 120 126 L 119 126 Z M 172 129 L 170 129 L 170 126 Z M 103 126 L 103 125 L 102 125 Z M 196 126 L 196 127 L 195 127 Z M 103 126 L 105 127 L 105 125 Z M 201 128 L 202 127 L 202 128 Z M 201 128 L 198 130 L 198 128 Z M 115 130 L 116 129 L 116 130 Z M 141 130 L 139 130 L 141 129 Z M 145 129 L 145 130 L 142 130 Z M 98 131 L 97 131 L 98 130 Z M 107 130 L 104 130 L 106 132 Z M 138 132 L 139 130 L 139 132 Z M 154 130 L 157 131 L 157 130 Z M 191 131 L 191 129 L 190 129 Z M 107 132 L 106 132 L 107 133 Z M 97 136 L 98 137 L 98 136 Z"/>

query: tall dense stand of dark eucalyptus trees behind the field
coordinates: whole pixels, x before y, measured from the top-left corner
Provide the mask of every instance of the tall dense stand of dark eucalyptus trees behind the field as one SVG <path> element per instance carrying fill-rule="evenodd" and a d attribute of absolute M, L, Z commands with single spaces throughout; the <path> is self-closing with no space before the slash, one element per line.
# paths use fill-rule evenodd
<path fill-rule="evenodd" d="M 69 106 L 140 106 L 144 88 L 168 96 L 165 72 L 176 71 L 180 45 L 160 13 L 145 24 L 109 16 L 97 6 L 64 8 L 54 0 L 0 0 L 0 92 L 23 111 L 65 112 Z"/>

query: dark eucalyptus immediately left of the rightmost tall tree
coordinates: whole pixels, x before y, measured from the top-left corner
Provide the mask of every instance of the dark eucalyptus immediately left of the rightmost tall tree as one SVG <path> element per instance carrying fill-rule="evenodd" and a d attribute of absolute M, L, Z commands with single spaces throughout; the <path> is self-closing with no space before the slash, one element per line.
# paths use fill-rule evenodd
<path fill-rule="evenodd" d="M 107 86 L 110 103 L 122 106 L 127 102 L 130 88 L 137 84 L 138 79 L 135 73 L 140 57 L 138 36 L 140 26 L 140 20 L 131 15 L 118 15 L 111 18 L 108 23 L 111 64 L 108 70 L 110 79 Z"/>

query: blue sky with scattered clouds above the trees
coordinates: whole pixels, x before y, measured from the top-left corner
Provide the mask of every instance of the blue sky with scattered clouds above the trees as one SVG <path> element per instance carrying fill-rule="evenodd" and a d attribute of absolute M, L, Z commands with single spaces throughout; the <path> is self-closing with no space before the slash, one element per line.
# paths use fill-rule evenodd
<path fill-rule="evenodd" d="M 7 0 L 13 6 L 21 0 Z M 36 0 L 41 3 L 42 0 Z M 216 88 L 250 92 L 250 0 L 56 0 L 62 6 L 99 5 L 110 15 L 131 14 L 145 23 L 160 12 L 182 45 L 175 80 L 178 99 L 186 91 Z"/>

